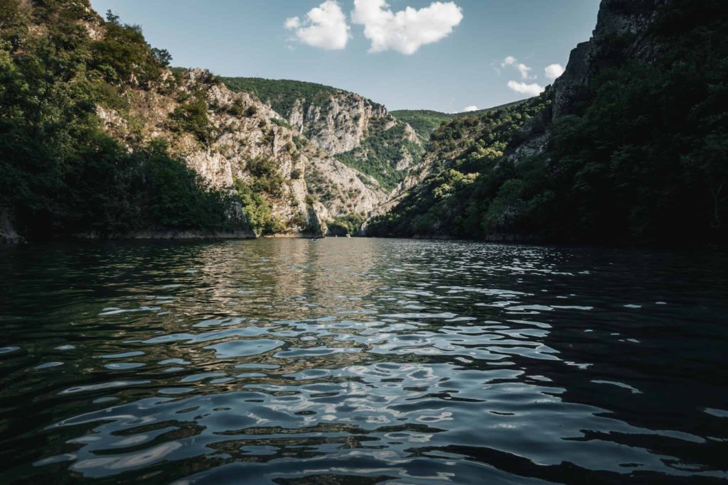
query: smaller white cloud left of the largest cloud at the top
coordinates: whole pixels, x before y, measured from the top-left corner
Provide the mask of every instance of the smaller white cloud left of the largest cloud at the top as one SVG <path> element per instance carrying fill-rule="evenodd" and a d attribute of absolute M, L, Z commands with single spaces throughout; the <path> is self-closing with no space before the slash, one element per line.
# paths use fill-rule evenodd
<path fill-rule="evenodd" d="M 349 41 L 347 17 L 336 0 L 326 0 L 311 9 L 303 21 L 298 17 L 286 19 L 285 28 L 293 31 L 294 38 L 301 44 L 320 49 L 344 49 Z"/>

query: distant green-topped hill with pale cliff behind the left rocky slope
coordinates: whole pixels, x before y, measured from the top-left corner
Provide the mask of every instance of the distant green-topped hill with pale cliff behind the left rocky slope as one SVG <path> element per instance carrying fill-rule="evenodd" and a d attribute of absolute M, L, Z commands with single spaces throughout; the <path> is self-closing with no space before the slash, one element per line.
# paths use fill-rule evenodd
<path fill-rule="evenodd" d="M 223 78 L 279 113 L 298 134 L 391 191 L 422 157 L 422 141 L 387 108 L 360 95 L 321 84 L 258 78 Z"/>

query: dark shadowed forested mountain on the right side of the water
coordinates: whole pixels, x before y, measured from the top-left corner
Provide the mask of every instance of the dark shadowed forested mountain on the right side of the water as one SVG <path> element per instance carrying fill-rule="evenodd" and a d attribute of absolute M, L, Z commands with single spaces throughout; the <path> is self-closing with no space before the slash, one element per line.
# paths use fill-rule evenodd
<path fill-rule="evenodd" d="M 542 95 L 436 129 L 368 233 L 725 244 L 727 80 L 725 1 L 603 0 Z"/>

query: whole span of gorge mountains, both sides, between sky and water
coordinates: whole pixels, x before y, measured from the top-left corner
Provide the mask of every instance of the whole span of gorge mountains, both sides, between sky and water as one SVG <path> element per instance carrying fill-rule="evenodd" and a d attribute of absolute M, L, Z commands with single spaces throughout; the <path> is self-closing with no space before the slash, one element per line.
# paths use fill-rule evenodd
<path fill-rule="evenodd" d="M 1 4 L 0 240 L 728 240 L 723 0 L 602 0 L 542 95 L 458 114 L 170 68 L 88 0 Z"/>

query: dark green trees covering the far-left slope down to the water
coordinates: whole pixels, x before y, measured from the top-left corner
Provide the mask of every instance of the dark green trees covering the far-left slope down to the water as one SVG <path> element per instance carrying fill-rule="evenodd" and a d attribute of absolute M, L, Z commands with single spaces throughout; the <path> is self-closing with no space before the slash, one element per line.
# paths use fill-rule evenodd
<path fill-rule="evenodd" d="M 124 146 L 96 114 L 129 89 L 172 92 L 168 52 L 84 1 L 0 0 L 0 209 L 31 238 L 239 225 L 162 141 Z M 92 31 L 93 35 L 90 35 Z M 138 142 L 138 143 L 137 143 Z"/>

